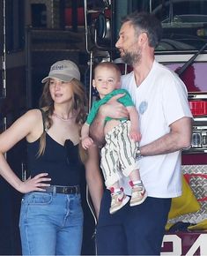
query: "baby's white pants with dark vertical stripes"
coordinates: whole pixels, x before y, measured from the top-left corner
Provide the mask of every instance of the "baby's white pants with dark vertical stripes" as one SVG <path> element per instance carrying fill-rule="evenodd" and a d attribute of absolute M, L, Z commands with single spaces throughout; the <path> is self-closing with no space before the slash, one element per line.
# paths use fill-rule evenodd
<path fill-rule="evenodd" d="M 129 138 L 130 121 L 115 126 L 105 136 L 106 145 L 101 149 L 100 167 L 105 184 L 110 187 L 120 179 L 120 171 L 126 177 L 139 169 L 136 159 L 138 143 Z"/>

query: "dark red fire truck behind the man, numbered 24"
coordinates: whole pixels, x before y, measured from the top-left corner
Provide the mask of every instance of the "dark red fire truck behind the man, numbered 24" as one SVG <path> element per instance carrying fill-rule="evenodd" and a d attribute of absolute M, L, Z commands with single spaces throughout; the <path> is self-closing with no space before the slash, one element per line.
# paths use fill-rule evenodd
<path fill-rule="evenodd" d="M 182 153 L 182 171 L 191 193 L 183 192 L 186 198 L 180 210 L 168 221 L 161 255 L 207 255 L 207 1 L 85 1 L 90 81 L 93 64 L 104 60 L 114 61 L 123 72 L 129 72 L 115 41 L 122 16 L 131 11 L 149 11 L 161 20 L 163 39 L 156 59 L 185 82 L 194 116 L 191 147 Z M 184 207 L 187 201 L 189 205 Z"/>

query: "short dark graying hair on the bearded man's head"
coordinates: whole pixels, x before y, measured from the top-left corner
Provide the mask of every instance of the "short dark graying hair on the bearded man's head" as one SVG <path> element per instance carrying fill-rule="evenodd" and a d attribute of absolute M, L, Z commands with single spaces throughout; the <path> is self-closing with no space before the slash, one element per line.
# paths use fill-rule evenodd
<path fill-rule="evenodd" d="M 150 47 L 156 48 L 162 38 L 162 26 L 155 15 L 149 12 L 135 11 L 124 17 L 122 24 L 127 21 L 134 26 L 137 34 L 145 32 L 148 35 Z"/>

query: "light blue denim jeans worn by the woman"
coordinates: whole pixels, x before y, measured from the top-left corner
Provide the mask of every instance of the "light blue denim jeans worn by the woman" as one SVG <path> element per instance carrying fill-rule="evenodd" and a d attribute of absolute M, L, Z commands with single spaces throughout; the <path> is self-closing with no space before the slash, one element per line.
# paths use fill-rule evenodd
<path fill-rule="evenodd" d="M 80 255 L 83 221 L 80 194 L 27 193 L 19 220 L 23 255 Z"/>

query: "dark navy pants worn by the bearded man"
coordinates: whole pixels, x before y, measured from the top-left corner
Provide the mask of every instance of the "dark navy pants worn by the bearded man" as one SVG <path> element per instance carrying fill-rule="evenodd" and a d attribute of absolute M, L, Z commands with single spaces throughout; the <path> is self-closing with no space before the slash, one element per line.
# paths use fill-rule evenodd
<path fill-rule="evenodd" d="M 109 214 L 111 197 L 106 191 L 97 225 L 98 255 L 160 255 L 171 199 L 148 197 L 143 204 L 129 203 Z"/>

